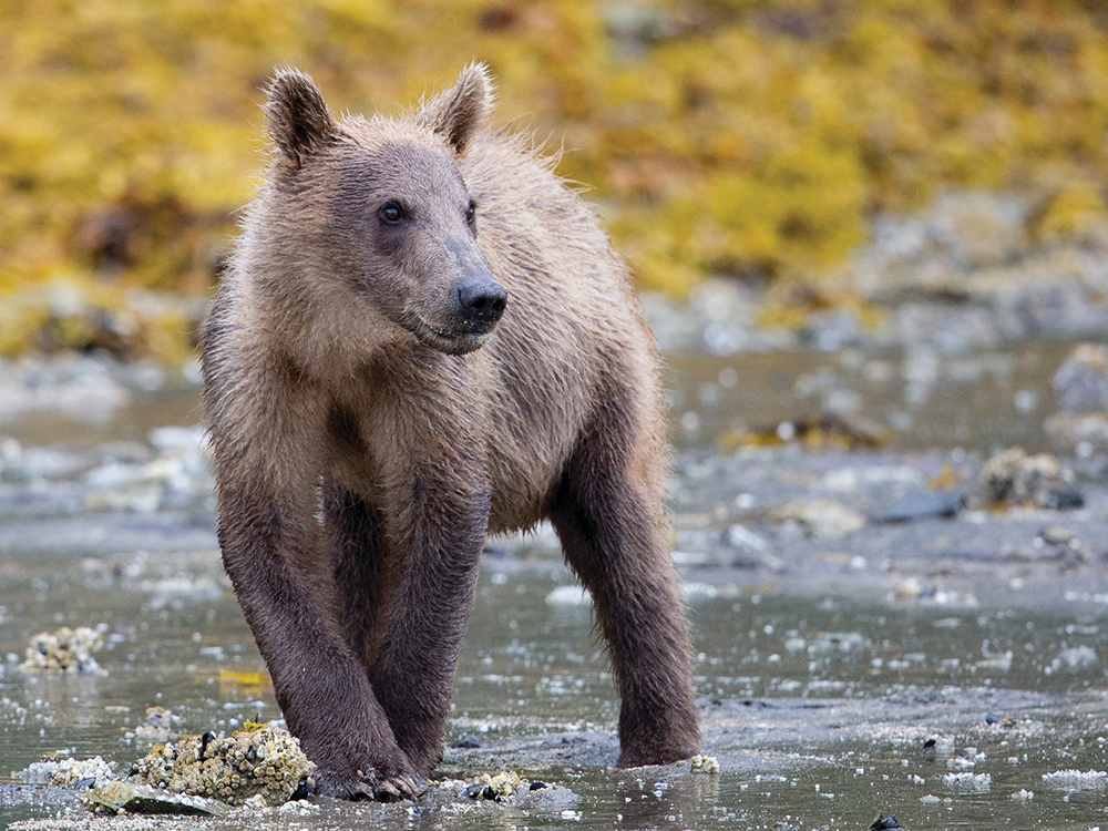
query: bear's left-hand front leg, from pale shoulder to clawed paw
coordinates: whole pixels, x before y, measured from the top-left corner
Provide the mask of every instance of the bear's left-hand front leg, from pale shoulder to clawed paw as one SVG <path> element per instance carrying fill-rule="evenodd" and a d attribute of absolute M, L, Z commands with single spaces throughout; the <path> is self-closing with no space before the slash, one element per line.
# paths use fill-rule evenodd
<path fill-rule="evenodd" d="M 207 332 L 204 368 L 219 545 L 277 704 L 325 792 L 414 799 L 417 770 L 335 611 L 316 517 L 326 399 L 287 375 L 248 372 L 217 335 Z"/>

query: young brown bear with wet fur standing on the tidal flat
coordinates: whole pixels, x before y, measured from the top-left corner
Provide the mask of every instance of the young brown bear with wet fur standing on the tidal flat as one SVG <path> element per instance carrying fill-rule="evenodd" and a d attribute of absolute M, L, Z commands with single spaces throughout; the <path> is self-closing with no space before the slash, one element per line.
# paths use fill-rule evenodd
<path fill-rule="evenodd" d="M 279 71 L 273 161 L 202 332 L 223 560 L 324 792 L 442 757 L 488 532 L 546 517 L 592 593 L 618 765 L 699 750 L 658 357 L 592 208 L 490 130 L 488 70 L 337 121 Z"/>

